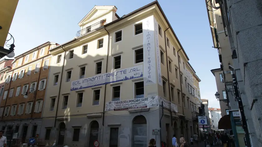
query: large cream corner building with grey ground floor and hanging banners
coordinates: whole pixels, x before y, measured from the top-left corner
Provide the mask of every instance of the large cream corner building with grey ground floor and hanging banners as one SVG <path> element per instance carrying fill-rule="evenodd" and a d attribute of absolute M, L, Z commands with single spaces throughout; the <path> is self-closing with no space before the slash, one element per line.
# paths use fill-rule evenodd
<path fill-rule="evenodd" d="M 196 73 L 159 3 L 123 17 L 116 11 L 95 6 L 77 37 L 50 50 L 54 81 L 47 82 L 40 134 L 48 144 L 147 146 L 161 125 L 171 146 L 174 133 L 189 140 L 197 131 Z"/>

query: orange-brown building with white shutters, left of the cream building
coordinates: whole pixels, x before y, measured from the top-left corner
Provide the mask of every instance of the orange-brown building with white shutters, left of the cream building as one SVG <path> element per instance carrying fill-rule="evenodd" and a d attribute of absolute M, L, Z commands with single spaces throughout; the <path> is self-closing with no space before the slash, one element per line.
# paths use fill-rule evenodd
<path fill-rule="evenodd" d="M 18 133 L 12 146 L 28 143 L 30 138 L 40 134 L 41 111 L 51 60 L 48 50 L 56 45 L 46 42 L 18 55 L 12 61 L 12 67 L 6 71 L 1 92 L 0 126 L 9 141 Z M 27 98 L 24 97 L 26 93 Z"/>

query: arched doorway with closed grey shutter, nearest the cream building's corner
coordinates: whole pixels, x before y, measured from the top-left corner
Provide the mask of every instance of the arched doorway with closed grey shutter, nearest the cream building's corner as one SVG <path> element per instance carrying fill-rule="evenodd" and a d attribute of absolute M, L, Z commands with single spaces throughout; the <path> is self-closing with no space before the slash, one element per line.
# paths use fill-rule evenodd
<path fill-rule="evenodd" d="M 139 115 L 133 119 L 132 147 L 148 146 L 147 144 L 147 120 Z"/>

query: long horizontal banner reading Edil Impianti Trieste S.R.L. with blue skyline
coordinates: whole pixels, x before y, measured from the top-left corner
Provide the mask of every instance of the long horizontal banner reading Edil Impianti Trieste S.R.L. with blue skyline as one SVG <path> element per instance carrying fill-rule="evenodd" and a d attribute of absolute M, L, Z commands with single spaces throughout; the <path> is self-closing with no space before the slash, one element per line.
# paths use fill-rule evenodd
<path fill-rule="evenodd" d="M 130 80 L 143 77 L 143 65 L 116 70 L 111 73 L 98 74 L 94 77 L 79 79 L 71 83 L 70 91 Z"/>

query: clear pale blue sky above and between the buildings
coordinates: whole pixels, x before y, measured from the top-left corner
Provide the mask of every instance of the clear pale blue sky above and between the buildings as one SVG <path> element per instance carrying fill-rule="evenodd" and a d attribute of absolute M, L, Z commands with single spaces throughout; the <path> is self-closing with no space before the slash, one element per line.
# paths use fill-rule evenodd
<path fill-rule="evenodd" d="M 125 14 L 152 0 L 20 0 L 9 32 L 15 38 L 15 54 L 20 55 L 47 41 L 65 43 L 80 30 L 78 22 L 95 6 L 114 5 Z M 216 81 L 211 69 L 219 68 L 217 50 L 212 48 L 205 0 L 159 0 L 167 19 L 185 49 L 190 64 L 201 79 L 202 99 L 220 107 L 215 98 Z"/>

